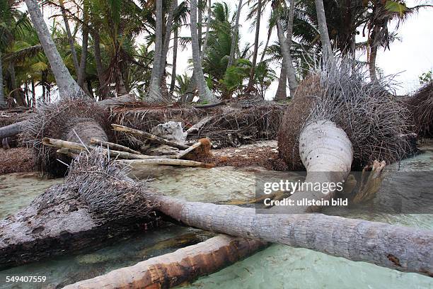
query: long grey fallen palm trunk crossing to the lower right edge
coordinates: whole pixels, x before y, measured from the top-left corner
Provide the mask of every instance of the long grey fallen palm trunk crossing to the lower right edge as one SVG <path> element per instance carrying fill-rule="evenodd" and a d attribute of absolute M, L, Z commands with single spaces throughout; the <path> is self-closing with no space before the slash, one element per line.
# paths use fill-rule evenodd
<path fill-rule="evenodd" d="M 298 246 L 403 272 L 433 276 L 433 232 L 323 214 L 257 214 L 253 208 L 154 196 L 158 210 L 185 225 Z"/>

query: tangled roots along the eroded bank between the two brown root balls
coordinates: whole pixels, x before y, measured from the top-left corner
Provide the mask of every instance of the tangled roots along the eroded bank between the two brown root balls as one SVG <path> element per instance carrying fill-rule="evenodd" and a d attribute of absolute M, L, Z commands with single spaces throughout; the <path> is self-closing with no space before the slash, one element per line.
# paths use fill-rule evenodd
<path fill-rule="evenodd" d="M 150 132 L 156 125 L 170 120 L 183 123 L 186 129 L 205 120 L 200 123 L 200 128 L 188 131 L 187 140 L 209 137 L 212 147 L 237 147 L 255 140 L 275 139 L 284 108 L 267 101 L 248 107 L 240 107 L 236 103 L 212 108 L 137 106 L 113 109 L 113 123 Z M 127 139 L 122 141 L 133 145 Z"/>

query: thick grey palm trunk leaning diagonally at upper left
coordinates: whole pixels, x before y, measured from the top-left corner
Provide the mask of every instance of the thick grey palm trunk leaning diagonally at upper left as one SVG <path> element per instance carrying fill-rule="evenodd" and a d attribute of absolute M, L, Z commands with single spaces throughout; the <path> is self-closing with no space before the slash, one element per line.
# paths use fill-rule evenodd
<path fill-rule="evenodd" d="M 59 87 L 60 96 L 88 98 L 83 89 L 81 89 L 81 87 L 71 77 L 67 67 L 64 65 L 62 57 L 60 56 L 59 51 L 57 51 L 57 47 L 51 38 L 50 30 L 48 30 L 47 24 L 40 12 L 37 1 L 25 0 L 25 4 L 27 5 L 30 18 L 32 19 L 33 26 L 35 26 L 40 43 L 44 48 L 45 55 L 50 62 L 52 73 L 54 74 L 57 86 Z"/>

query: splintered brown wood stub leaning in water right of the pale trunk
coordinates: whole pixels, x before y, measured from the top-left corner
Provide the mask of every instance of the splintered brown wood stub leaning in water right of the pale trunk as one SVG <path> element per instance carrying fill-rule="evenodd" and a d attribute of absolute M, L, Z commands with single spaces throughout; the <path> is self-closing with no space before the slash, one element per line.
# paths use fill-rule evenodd
<path fill-rule="evenodd" d="M 359 186 L 359 191 L 354 196 L 352 202 L 355 204 L 366 203 L 369 200 L 373 200 L 376 193 L 381 188 L 381 183 L 385 178 L 386 174 L 383 171 L 386 162 L 374 161 L 372 166 L 366 166 L 362 170 L 361 183 Z M 371 169 L 369 176 L 365 179 L 366 171 Z"/>

